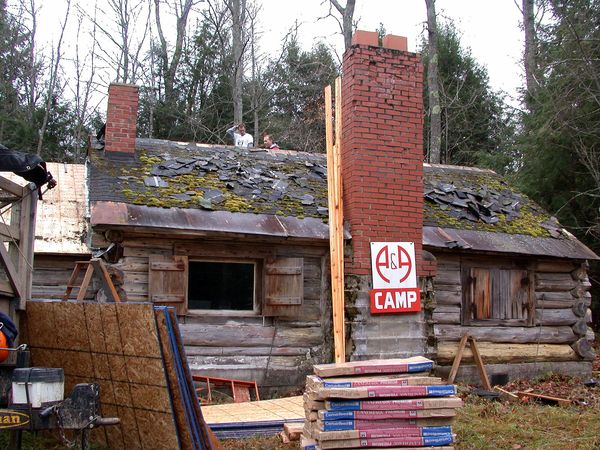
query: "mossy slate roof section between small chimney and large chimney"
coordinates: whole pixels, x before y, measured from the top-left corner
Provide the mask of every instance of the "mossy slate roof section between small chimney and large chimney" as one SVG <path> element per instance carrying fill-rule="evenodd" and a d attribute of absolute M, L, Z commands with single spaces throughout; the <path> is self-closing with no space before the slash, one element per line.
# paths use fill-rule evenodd
<path fill-rule="evenodd" d="M 156 139 L 115 155 L 90 150 L 92 202 L 328 217 L 324 155 Z"/>

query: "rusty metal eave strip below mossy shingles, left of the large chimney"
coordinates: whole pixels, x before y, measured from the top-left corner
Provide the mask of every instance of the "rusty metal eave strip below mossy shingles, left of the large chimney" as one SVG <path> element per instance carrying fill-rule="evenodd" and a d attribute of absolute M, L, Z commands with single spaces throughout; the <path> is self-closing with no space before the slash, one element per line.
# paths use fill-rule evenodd
<path fill-rule="evenodd" d="M 90 223 L 95 228 L 160 230 L 205 234 L 237 234 L 299 240 L 329 240 L 321 219 L 283 217 L 200 209 L 155 208 L 128 203 L 92 203 Z"/>

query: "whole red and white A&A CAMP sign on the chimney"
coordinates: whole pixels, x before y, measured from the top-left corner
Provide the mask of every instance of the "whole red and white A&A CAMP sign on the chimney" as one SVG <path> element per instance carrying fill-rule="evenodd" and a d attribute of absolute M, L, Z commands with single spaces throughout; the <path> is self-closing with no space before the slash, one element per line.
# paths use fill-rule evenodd
<path fill-rule="evenodd" d="M 421 311 L 413 242 L 371 242 L 371 314 Z"/>

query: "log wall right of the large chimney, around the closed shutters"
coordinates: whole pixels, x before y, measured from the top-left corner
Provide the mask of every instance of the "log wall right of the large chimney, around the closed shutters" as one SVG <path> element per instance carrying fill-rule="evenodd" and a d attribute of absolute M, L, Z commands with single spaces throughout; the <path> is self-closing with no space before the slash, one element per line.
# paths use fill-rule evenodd
<path fill-rule="evenodd" d="M 463 294 L 468 290 L 464 284 L 463 266 L 477 265 L 477 260 L 447 253 L 435 255 L 438 261 L 438 274 L 435 279 L 436 308 L 433 312 L 435 336 L 438 342 L 437 362 L 441 372 L 452 364 L 458 341 L 468 333 L 477 339 L 484 363 L 495 364 L 501 371 L 517 377 L 531 372 L 511 370 L 532 361 L 540 363 L 561 363 L 568 372 L 589 371 L 589 363 L 584 360 L 593 357 L 589 339 L 593 333 L 589 328 L 591 295 L 587 278 L 586 263 L 560 260 L 521 260 L 499 261 L 506 266 L 526 268 L 534 274 L 535 320 L 533 326 L 523 321 L 477 321 L 464 326 Z M 498 264 L 498 258 L 481 256 L 481 264 L 491 267 Z M 586 337 L 587 336 L 587 337 Z M 572 362 L 573 364 L 564 364 Z M 579 369 L 576 362 L 581 362 Z M 472 363 L 470 351 L 465 352 L 463 364 Z M 560 365 L 560 364 L 559 364 Z M 444 368 L 444 366 L 446 366 Z M 547 367 L 538 364 L 532 367 Z M 558 367 L 558 366 L 557 366 Z M 580 370 L 581 369 L 581 370 Z M 473 372 L 466 369 L 465 375 Z M 459 372 L 460 376 L 461 372 Z"/>

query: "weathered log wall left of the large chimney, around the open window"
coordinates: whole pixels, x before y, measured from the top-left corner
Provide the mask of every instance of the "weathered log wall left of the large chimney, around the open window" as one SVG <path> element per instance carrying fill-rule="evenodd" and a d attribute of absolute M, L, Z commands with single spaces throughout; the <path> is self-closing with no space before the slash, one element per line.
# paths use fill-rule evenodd
<path fill-rule="evenodd" d="M 151 255 L 202 258 L 303 258 L 303 299 L 293 317 L 191 311 L 180 327 L 192 372 L 256 380 L 263 395 L 301 386 L 313 364 L 331 361 L 328 248 L 184 239 L 131 238 L 113 267 L 123 272 L 128 301 L 148 301 Z M 259 299 L 260 301 L 260 299 Z"/>

